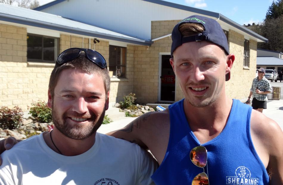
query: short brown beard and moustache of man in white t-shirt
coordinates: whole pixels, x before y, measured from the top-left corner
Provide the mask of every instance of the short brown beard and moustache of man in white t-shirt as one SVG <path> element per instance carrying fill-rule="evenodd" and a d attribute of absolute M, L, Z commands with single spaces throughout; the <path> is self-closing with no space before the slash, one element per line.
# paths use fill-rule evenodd
<path fill-rule="evenodd" d="M 57 115 L 56 108 L 54 108 L 52 104 L 52 119 L 55 127 L 70 139 L 81 140 L 90 137 L 101 126 L 104 119 L 104 115 L 105 115 L 105 106 L 101 116 L 99 117 L 97 117 L 95 114 L 90 112 L 83 115 L 75 112 L 65 112 L 62 118 L 60 118 L 60 116 Z M 67 119 L 70 119 L 68 117 L 88 118 L 88 121 L 90 120 L 89 121 L 90 123 L 77 124 L 71 126 L 71 124 L 68 124 Z"/>

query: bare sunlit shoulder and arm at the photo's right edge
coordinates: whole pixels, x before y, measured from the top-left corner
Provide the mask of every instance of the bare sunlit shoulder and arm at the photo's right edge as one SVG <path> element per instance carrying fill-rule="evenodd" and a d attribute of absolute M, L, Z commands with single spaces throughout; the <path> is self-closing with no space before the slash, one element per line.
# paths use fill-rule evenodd
<path fill-rule="evenodd" d="M 251 136 L 260 159 L 270 175 L 270 184 L 283 184 L 283 132 L 264 114 L 253 111 Z"/>

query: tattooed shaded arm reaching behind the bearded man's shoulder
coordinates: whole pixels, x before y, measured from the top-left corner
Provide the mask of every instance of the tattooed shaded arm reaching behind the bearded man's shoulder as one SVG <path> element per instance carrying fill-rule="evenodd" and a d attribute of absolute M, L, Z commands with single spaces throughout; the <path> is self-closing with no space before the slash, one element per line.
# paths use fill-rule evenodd
<path fill-rule="evenodd" d="M 144 149 L 149 149 L 158 163 L 161 164 L 170 135 L 169 110 L 148 112 L 139 116 L 125 128 L 107 134 L 139 144 Z"/>

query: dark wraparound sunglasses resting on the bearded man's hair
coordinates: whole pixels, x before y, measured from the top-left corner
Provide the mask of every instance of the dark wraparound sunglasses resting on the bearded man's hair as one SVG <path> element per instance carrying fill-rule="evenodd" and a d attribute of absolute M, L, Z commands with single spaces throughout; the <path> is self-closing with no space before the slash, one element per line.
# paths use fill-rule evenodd
<path fill-rule="evenodd" d="M 57 63 L 62 65 L 63 63 L 69 62 L 74 60 L 80 55 L 80 52 L 85 52 L 85 57 L 90 60 L 91 62 L 95 63 L 101 69 L 104 69 L 106 65 L 106 60 L 104 57 L 97 51 L 92 49 L 85 49 L 85 48 L 69 48 L 60 53 L 57 57 Z"/>

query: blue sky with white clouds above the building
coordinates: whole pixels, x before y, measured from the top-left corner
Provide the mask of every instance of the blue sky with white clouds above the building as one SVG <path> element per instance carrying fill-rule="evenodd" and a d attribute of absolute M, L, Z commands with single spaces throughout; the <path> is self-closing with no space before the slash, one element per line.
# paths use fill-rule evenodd
<path fill-rule="evenodd" d="M 54 0 L 38 0 L 40 6 Z M 116 0 L 113 0 L 116 1 Z M 238 24 L 262 22 L 273 0 L 165 0 L 220 13 Z"/>

